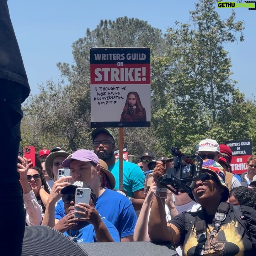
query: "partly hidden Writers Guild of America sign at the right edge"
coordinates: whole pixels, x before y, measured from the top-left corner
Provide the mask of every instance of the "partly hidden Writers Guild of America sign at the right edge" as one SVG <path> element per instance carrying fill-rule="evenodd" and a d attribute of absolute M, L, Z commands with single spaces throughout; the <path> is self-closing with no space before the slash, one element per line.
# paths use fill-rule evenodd
<path fill-rule="evenodd" d="M 246 172 L 247 159 L 252 155 L 252 140 L 229 140 L 225 144 L 232 150 L 231 171 L 235 174 Z"/>

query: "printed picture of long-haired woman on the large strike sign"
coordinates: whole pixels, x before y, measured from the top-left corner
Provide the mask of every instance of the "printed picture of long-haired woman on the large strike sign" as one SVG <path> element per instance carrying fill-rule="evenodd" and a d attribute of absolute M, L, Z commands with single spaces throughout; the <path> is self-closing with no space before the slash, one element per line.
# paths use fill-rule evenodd
<path fill-rule="evenodd" d="M 137 92 L 129 92 L 121 115 L 121 122 L 146 122 L 146 110 Z"/>

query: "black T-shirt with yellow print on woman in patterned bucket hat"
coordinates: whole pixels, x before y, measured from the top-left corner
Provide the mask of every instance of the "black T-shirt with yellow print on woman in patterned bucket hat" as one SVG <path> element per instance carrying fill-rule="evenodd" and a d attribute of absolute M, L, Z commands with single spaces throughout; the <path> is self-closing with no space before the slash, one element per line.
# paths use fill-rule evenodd
<path fill-rule="evenodd" d="M 208 216 L 204 219 L 206 220 L 207 226 L 207 240 L 205 242 L 204 255 L 211 256 L 249 256 L 255 255 L 252 249 L 252 244 L 256 243 L 256 211 L 247 206 L 241 206 L 241 211 L 246 218 L 247 230 L 241 225 L 241 223 L 236 219 L 232 207 L 230 207 L 226 219 L 222 222 L 222 225 L 218 233 L 213 236 L 210 240 L 210 233 L 213 230 L 215 217 Z M 200 211 L 191 213 L 194 217 L 199 214 Z M 183 256 L 194 256 L 200 255 L 196 239 L 196 229 L 194 224 L 192 228 L 187 233 L 185 239 L 185 214 L 183 212 L 178 214 L 173 218 L 170 223 L 174 224 L 181 234 L 181 245 L 183 245 Z M 203 214 L 202 214 L 203 215 Z M 204 215 L 203 215 L 204 216 Z M 249 235 L 250 234 L 250 235 Z"/>

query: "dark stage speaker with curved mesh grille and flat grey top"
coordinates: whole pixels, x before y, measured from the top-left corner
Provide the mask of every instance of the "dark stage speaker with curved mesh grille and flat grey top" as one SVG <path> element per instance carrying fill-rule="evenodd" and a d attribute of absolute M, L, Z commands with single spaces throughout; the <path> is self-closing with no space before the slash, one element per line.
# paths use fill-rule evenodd
<path fill-rule="evenodd" d="M 76 244 L 48 226 L 25 228 L 22 256 L 178 256 L 169 243 L 96 242 Z"/>

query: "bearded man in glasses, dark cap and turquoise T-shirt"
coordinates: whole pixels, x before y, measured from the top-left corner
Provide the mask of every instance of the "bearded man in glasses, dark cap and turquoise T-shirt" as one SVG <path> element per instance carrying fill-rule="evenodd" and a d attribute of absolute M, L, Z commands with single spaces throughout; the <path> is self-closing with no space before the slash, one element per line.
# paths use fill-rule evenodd
<path fill-rule="evenodd" d="M 115 140 L 111 130 L 96 128 L 91 133 L 94 153 L 108 165 L 108 170 L 116 179 L 115 189 L 119 189 L 119 159 L 114 155 Z M 140 167 L 132 162 L 123 161 L 123 189 L 135 210 L 140 210 L 144 202 L 144 175 Z"/>

